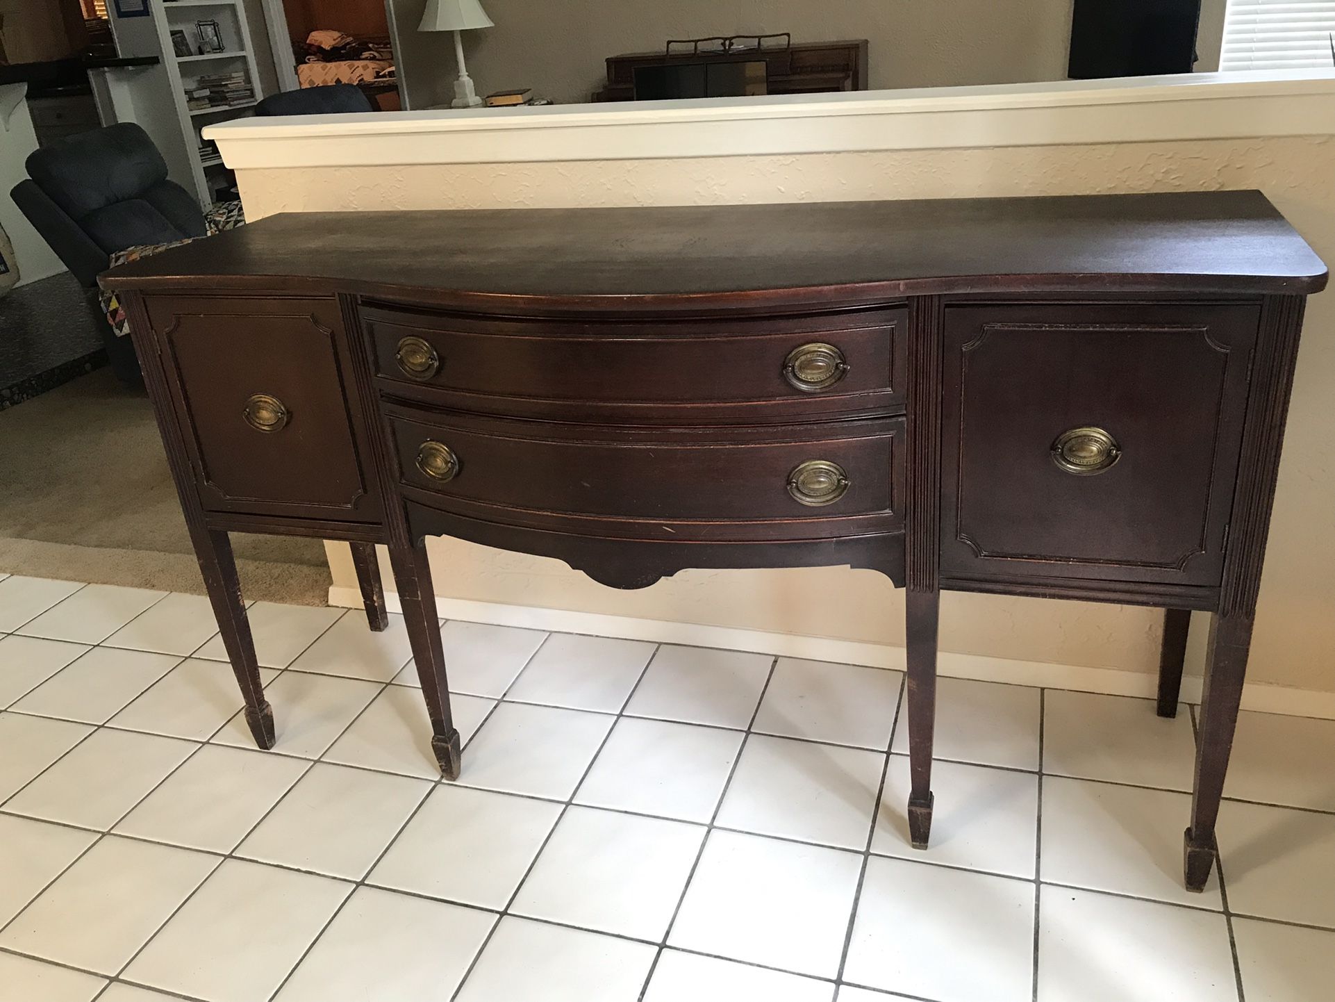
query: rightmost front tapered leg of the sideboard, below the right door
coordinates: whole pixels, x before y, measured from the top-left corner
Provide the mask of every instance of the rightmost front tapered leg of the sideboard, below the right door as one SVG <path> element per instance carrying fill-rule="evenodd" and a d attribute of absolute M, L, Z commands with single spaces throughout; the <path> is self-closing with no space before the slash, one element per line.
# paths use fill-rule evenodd
<path fill-rule="evenodd" d="M 1196 780 L 1187 828 L 1184 871 L 1188 891 L 1200 891 L 1219 856 L 1215 822 L 1224 795 L 1224 774 L 1234 747 L 1234 728 L 1243 696 L 1243 675 L 1251 647 L 1252 617 L 1216 613 L 1210 625 L 1206 689 L 1196 733 Z"/>

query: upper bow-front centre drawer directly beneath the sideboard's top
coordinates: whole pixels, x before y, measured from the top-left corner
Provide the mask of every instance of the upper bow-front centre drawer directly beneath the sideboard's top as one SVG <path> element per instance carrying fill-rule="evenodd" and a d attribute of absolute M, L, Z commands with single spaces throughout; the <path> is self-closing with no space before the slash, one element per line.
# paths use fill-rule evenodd
<path fill-rule="evenodd" d="M 906 307 L 736 321 L 541 321 L 363 307 L 396 393 L 517 417 L 708 422 L 902 405 Z M 431 387 L 414 394 L 409 387 Z"/>

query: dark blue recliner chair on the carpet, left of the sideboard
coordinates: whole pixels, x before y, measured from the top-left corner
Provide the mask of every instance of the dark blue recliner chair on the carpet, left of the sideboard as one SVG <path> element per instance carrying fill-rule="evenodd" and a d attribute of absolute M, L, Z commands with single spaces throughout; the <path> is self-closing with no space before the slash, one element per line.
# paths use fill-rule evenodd
<path fill-rule="evenodd" d="M 9 192 L 33 228 L 79 279 L 101 318 L 112 370 L 142 382 L 129 338 L 116 337 L 97 302 L 97 275 L 115 251 L 206 234 L 204 214 L 167 180 L 167 163 L 143 128 L 123 122 L 36 150 L 28 179 Z"/>

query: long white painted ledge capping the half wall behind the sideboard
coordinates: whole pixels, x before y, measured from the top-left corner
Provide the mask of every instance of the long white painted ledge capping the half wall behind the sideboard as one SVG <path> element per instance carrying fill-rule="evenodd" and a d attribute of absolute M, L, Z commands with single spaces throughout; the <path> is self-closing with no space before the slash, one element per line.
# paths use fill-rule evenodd
<path fill-rule="evenodd" d="M 686 102 L 246 118 L 228 167 L 374 167 L 834 154 L 1335 134 L 1335 71 Z"/>

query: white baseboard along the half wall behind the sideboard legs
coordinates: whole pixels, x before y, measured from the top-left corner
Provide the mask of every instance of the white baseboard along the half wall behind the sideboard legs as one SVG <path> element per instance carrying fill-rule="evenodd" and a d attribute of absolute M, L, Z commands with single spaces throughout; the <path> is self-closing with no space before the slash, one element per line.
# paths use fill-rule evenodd
<path fill-rule="evenodd" d="M 399 596 L 384 593 L 391 612 L 400 612 Z M 686 644 L 689 647 L 717 647 L 728 651 L 753 651 L 781 657 L 805 657 L 813 661 L 861 664 L 870 668 L 904 669 L 904 648 L 889 644 L 868 644 L 857 640 L 812 637 L 793 633 L 770 633 L 760 629 L 712 627 L 698 623 L 672 623 L 668 620 L 606 616 L 594 612 L 570 612 L 533 605 L 503 605 L 470 599 L 437 596 L 437 612 L 442 619 L 469 623 L 491 623 L 501 627 L 526 627 L 559 633 L 587 633 L 625 640 L 647 640 L 657 644 Z M 356 588 L 331 585 L 330 605 L 358 609 L 362 593 Z M 1156 679 L 1148 672 L 1123 672 L 1112 668 L 1087 668 L 1073 664 L 1047 664 L 1017 661 L 984 655 L 960 655 L 941 651 L 937 671 L 952 679 L 1004 681 L 1016 685 L 1039 685 L 1049 689 L 1101 692 L 1111 696 L 1153 697 Z M 1202 680 L 1187 676 L 1181 681 L 1181 697 L 1188 703 L 1200 701 Z M 1335 692 L 1291 689 L 1282 685 L 1247 683 L 1243 688 L 1243 709 L 1287 716 L 1311 716 L 1335 720 Z"/>

